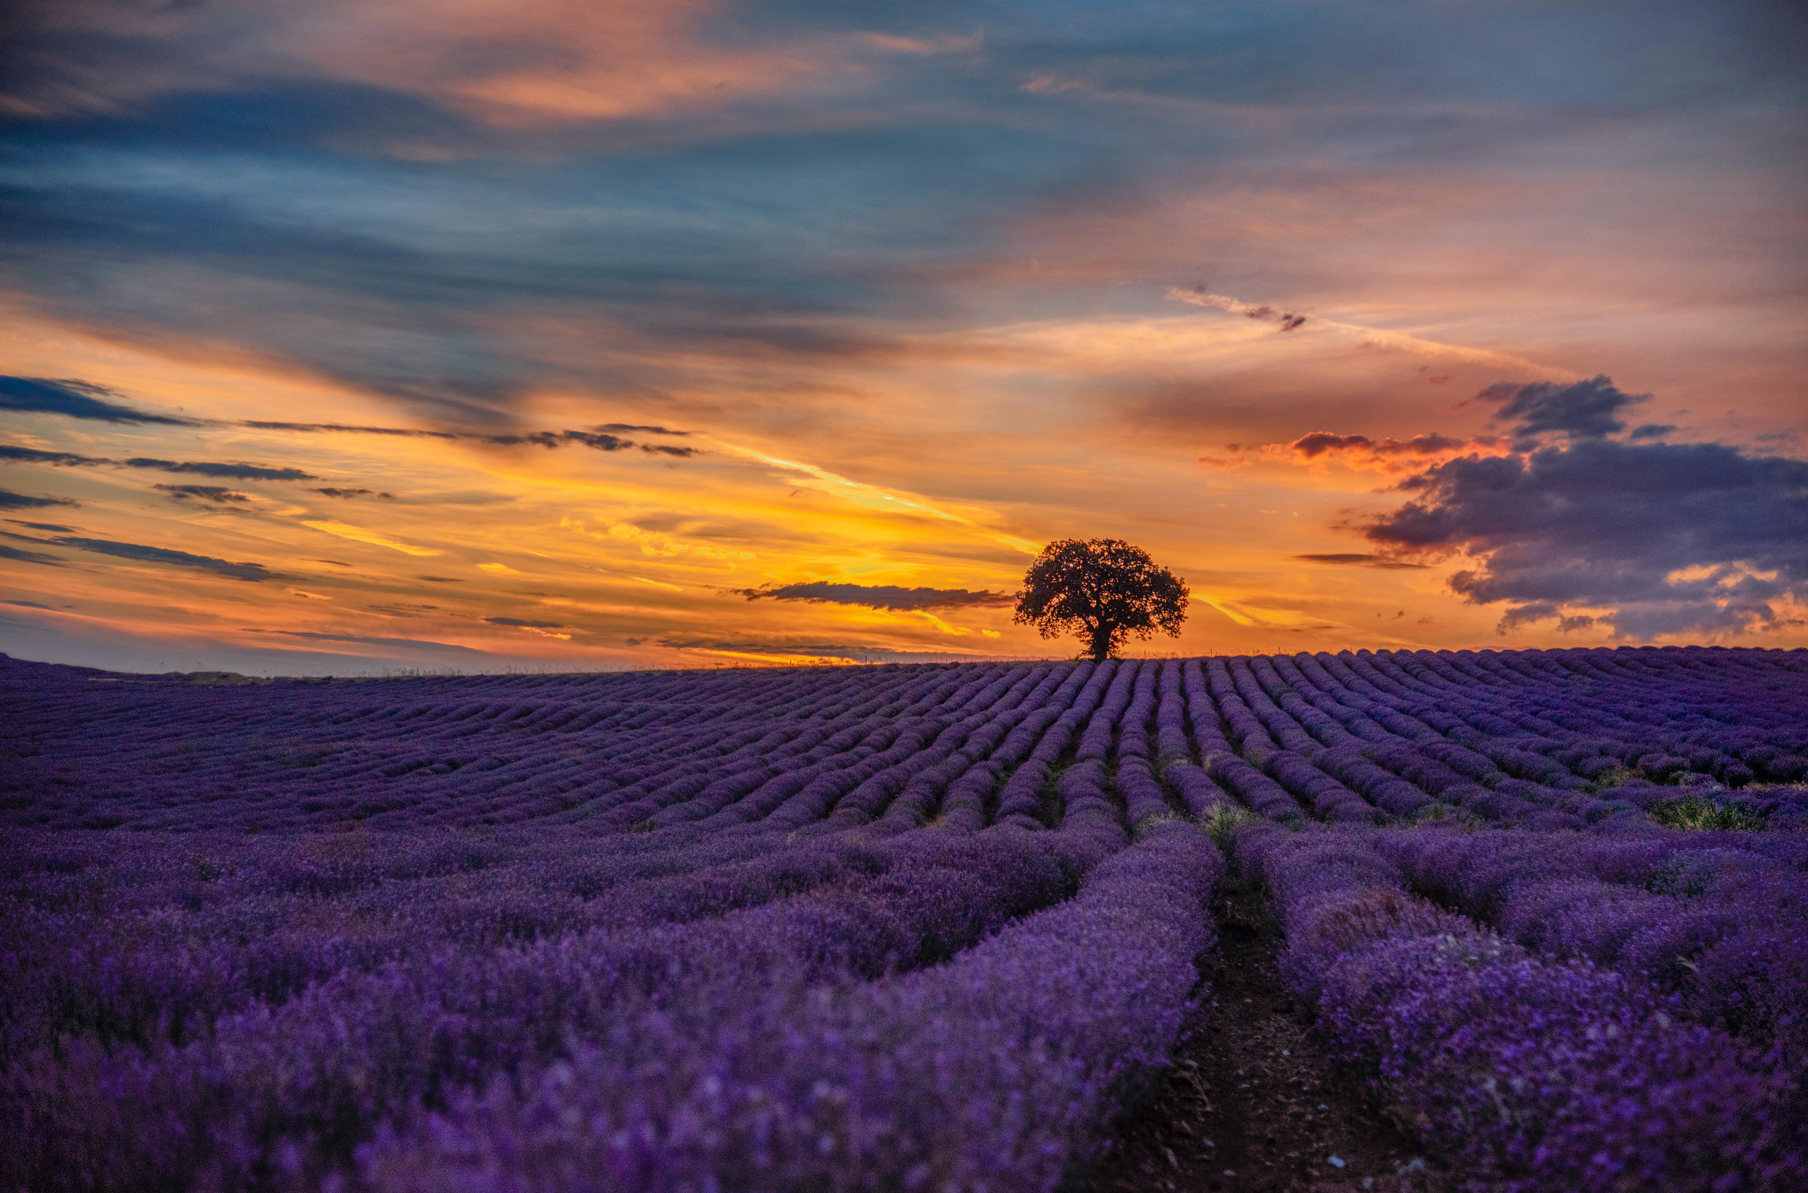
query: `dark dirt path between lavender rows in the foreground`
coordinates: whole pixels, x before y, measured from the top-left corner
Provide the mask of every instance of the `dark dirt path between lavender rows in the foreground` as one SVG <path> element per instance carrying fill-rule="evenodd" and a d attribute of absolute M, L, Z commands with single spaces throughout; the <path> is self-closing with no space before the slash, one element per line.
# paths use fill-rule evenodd
<path fill-rule="evenodd" d="M 1275 967 L 1266 891 L 1228 878 L 1215 900 L 1211 1000 L 1173 1070 L 1132 1110 L 1076 1193 L 1439 1193 L 1412 1139 L 1332 1072 Z"/>

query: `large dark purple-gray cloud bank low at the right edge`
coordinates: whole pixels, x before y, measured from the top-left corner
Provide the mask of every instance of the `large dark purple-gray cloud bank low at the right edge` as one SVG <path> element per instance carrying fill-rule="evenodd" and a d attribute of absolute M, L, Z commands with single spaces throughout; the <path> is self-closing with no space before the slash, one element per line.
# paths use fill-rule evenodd
<path fill-rule="evenodd" d="M 1808 600 L 1808 461 L 1651 443 L 1669 430 L 1654 425 L 1616 437 L 1645 398 L 1606 376 L 1479 398 L 1513 419 L 1515 452 L 1407 479 L 1416 497 L 1361 533 L 1387 555 L 1475 559 L 1450 586 L 1474 604 L 1506 602 L 1502 633 L 1557 618 L 1620 638 L 1736 634 L 1781 625 L 1779 602 Z"/>

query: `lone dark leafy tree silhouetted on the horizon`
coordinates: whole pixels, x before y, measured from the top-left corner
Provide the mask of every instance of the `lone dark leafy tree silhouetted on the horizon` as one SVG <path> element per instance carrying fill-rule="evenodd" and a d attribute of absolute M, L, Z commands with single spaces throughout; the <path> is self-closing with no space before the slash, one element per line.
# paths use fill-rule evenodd
<path fill-rule="evenodd" d="M 1029 566 L 1016 602 L 1018 624 L 1043 638 L 1074 634 L 1106 660 L 1130 634 L 1146 640 L 1159 629 L 1179 638 L 1186 580 L 1123 539 L 1061 539 Z"/>

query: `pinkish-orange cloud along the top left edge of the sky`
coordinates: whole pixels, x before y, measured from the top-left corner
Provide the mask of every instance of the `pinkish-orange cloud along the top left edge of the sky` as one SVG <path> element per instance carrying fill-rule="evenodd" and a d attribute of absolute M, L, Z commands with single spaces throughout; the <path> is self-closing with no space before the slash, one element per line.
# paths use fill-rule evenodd
<path fill-rule="evenodd" d="M 54 85 L 0 94 L 0 110 L 119 110 L 170 90 L 313 74 L 428 96 L 497 128 L 656 121 L 873 70 L 875 56 L 971 52 L 975 36 L 734 29 L 714 0 L 224 0 L 137 11 L 45 5 L 38 33 L 103 34 L 145 52 L 72 58 Z M 230 14 L 230 18 L 224 18 Z M 148 47 L 155 47 L 150 51 Z M 432 157 L 432 146 L 414 146 Z"/>

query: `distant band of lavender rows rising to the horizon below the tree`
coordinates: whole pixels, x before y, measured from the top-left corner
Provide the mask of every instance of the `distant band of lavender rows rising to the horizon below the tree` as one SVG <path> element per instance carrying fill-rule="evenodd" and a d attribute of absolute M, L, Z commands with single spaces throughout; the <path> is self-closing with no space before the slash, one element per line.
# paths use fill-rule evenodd
<path fill-rule="evenodd" d="M 1756 817 L 1801 817 L 1797 794 L 1770 784 L 1792 784 L 1808 768 L 1801 653 L 745 671 L 700 674 L 689 687 L 671 676 L 582 676 L 246 690 L 98 683 L 69 669 L 42 669 L 45 681 L 20 671 L 29 667 L 7 665 L 14 683 L 0 709 L 16 725 L 0 815 L 43 828 L 533 819 L 584 831 L 712 828 L 768 815 L 803 790 L 796 783 L 833 786 L 826 775 L 852 777 L 859 759 L 882 754 L 897 766 L 924 750 L 985 743 L 991 730 L 994 748 L 1007 737 L 1012 748 L 978 759 L 989 765 L 965 775 L 965 788 L 991 779 L 978 799 L 985 815 L 1043 822 L 1056 810 L 1041 788 L 1070 761 L 1088 766 L 1061 775 L 1061 797 L 1117 779 L 1125 797 L 1150 799 L 1150 779 L 1170 806 L 1193 813 L 1237 801 L 1280 819 L 1374 822 L 1436 803 L 1548 828 L 1671 799 L 1667 786 Z M 1108 698 L 1092 685 L 1108 687 Z M 492 700 L 472 698 L 485 690 Z M 461 700 L 427 703 L 428 694 Z M 976 718 L 985 725 L 971 725 Z M 886 812 L 900 774 L 861 774 L 833 792 L 828 812 Z M 913 797 L 933 812 L 938 794 L 924 797 L 924 783 L 933 775 Z"/>

